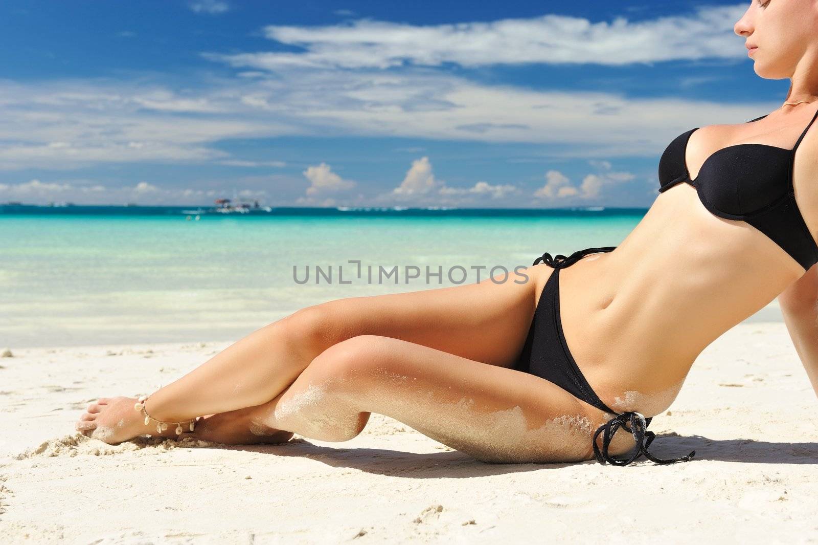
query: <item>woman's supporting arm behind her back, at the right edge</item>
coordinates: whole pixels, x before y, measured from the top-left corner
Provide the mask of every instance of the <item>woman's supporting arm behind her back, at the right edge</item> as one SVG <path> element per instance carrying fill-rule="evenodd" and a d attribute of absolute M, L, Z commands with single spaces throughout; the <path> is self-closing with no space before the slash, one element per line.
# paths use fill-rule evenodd
<path fill-rule="evenodd" d="M 784 323 L 818 395 L 818 263 L 778 296 Z"/>

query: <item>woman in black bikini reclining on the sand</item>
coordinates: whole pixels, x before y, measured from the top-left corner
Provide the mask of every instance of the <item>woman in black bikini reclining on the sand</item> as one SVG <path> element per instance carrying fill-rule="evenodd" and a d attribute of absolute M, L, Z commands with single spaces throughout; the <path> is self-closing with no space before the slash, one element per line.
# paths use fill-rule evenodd
<path fill-rule="evenodd" d="M 676 137 L 615 251 L 546 253 L 528 282 L 310 306 L 147 399 L 100 399 L 77 429 L 111 444 L 344 441 L 378 412 L 484 461 L 625 465 L 697 355 L 776 296 L 818 391 L 818 4 L 754 1 L 735 33 L 757 74 L 792 80 L 787 101 Z"/>

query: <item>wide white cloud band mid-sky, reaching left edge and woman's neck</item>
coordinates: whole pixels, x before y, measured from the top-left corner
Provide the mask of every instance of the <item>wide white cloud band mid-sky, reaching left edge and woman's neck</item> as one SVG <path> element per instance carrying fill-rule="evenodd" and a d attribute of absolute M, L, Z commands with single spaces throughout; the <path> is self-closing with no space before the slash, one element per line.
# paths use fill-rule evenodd
<path fill-rule="evenodd" d="M 237 160 L 213 143 L 286 135 L 559 144 L 548 151 L 558 158 L 654 156 L 691 126 L 739 123 L 777 107 L 536 91 L 412 70 L 294 72 L 199 93 L 178 97 L 133 82 L 0 80 L 0 170 Z"/>

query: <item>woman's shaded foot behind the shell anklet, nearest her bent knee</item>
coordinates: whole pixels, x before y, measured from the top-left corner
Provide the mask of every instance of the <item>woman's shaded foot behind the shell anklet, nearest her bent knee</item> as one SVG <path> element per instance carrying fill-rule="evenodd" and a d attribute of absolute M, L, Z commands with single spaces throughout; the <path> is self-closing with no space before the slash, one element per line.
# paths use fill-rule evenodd
<path fill-rule="evenodd" d="M 254 407 L 220 412 L 203 417 L 196 422 L 193 431 L 186 431 L 181 439 L 192 437 L 222 444 L 286 443 L 293 436 L 291 431 L 276 430 L 253 418 Z"/>

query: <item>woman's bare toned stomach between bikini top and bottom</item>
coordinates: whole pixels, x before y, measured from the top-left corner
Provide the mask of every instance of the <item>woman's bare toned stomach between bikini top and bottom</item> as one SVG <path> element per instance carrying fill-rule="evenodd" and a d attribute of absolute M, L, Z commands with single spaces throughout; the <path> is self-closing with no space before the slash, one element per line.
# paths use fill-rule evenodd
<path fill-rule="evenodd" d="M 662 193 L 616 250 L 560 269 L 560 314 L 578 367 L 614 410 L 654 416 L 701 351 L 804 270 L 748 223 Z"/>

